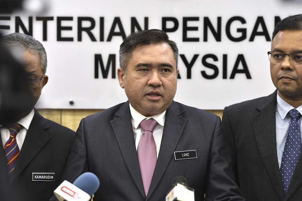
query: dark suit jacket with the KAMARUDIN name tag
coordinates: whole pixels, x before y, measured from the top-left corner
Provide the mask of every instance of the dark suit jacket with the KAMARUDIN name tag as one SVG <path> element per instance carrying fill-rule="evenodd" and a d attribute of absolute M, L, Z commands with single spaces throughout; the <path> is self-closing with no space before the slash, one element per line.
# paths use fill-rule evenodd
<path fill-rule="evenodd" d="M 75 132 L 34 112 L 10 181 L 0 149 L 0 200 L 49 200 L 60 184 Z M 32 172 L 54 172 L 55 181 L 32 181 Z"/>

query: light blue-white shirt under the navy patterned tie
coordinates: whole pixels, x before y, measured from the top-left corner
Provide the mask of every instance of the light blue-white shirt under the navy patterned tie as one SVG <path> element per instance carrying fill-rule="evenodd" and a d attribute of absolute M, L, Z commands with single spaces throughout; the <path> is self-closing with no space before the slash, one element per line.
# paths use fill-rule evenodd
<path fill-rule="evenodd" d="M 279 169 L 281 167 L 284 147 L 289 132 L 289 125 L 291 123 L 291 117 L 287 115 L 289 110 L 294 109 L 293 106 L 285 102 L 277 93 L 277 105 L 276 105 L 276 142 L 277 142 L 277 157 L 279 163 Z M 302 114 L 302 105 L 296 108 L 300 114 Z M 302 117 L 299 119 L 299 126 L 301 131 Z"/>

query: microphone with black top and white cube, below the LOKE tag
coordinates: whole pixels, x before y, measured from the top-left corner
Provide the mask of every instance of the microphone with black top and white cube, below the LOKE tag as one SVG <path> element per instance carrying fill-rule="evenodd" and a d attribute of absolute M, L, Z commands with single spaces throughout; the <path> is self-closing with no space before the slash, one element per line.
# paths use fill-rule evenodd
<path fill-rule="evenodd" d="M 183 176 L 177 176 L 172 181 L 172 187 L 166 194 L 166 201 L 194 201 L 194 189 L 188 187 Z"/>

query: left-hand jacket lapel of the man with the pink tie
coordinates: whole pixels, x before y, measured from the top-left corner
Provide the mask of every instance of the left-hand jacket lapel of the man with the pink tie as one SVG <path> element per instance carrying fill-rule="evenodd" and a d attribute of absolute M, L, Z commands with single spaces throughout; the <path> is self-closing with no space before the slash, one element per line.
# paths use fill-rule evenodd
<path fill-rule="evenodd" d="M 145 198 L 145 190 L 140 175 L 137 151 L 135 148 L 134 134 L 131 123 L 129 102 L 127 101 L 115 114 L 118 118 L 111 120 L 110 124 L 117 139 L 118 146 L 123 155 L 127 168 L 136 183 L 140 193 Z"/>

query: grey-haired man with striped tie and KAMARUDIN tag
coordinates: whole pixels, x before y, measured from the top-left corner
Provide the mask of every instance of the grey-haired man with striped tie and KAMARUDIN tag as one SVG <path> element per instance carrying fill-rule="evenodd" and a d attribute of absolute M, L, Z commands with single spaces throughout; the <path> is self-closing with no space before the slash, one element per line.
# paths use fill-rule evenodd
<path fill-rule="evenodd" d="M 0 125 L 0 200 L 49 200 L 61 180 L 75 132 L 44 119 L 34 108 L 48 82 L 43 45 L 22 33 L 0 42 L 23 61 L 34 100 L 19 121 Z"/>

